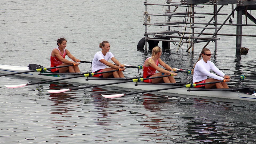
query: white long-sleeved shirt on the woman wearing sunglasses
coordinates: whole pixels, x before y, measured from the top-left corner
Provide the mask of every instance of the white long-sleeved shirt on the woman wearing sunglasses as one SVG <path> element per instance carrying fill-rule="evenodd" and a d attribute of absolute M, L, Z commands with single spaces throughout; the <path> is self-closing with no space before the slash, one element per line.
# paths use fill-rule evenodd
<path fill-rule="evenodd" d="M 215 73 L 217 73 L 220 76 L 210 73 L 210 70 L 213 70 Z M 201 59 L 195 65 L 194 74 L 193 74 L 193 83 L 205 80 L 207 79 L 207 76 L 214 79 L 223 80 L 224 75 L 225 74 L 221 70 L 219 70 L 214 65 L 213 62 L 207 61 L 206 63 L 205 61 L 203 61 L 203 59 Z"/>

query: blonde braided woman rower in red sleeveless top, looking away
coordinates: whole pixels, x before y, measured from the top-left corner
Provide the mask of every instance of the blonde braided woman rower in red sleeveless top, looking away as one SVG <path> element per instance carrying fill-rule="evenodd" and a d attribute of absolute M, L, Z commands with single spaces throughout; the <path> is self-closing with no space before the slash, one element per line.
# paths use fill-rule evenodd
<path fill-rule="evenodd" d="M 158 77 L 161 75 L 173 75 L 176 76 L 177 73 L 172 73 L 170 71 L 176 71 L 176 69 L 171 68 L 169 65 L 167 65 L 165 62 L 161 60 L 161 54 L 162 50 L 159 46 L 155 46 L 152 50 L 152 56 L 147 58 L 143 65 L 143 78 L 148 77 Z M 158 67 L 158 64 L 165 67 L 167 70 L 162 69 L 161 67 Z M 160 73 L 155 73 L 155 71 L 159 71 Z M 170 70 L 170 71 L 168 71 Z M 176 83 L 173 76 L 169 77 L 163 77 L 163 78 L 154 78 L 154 79 L 147 79 L 144 80 L 144 82 L 150 82 L 150 83 Z"/>

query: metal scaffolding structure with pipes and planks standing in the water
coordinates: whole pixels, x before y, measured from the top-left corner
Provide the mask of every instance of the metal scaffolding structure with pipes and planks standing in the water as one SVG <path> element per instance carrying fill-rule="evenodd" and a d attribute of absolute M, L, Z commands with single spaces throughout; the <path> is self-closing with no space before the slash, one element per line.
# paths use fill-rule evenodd
<path fill-rule="evenodd" d="M 153 1 L 153 0 L 152 0 Z M 188 43 L 187 52 L 191 49 L 191 53 L 194 53 L 194 44 L 206 42 L 205 47 L 212 41 L 215 43 L 215 53 L 217 51 L 217 40 L 218 35 L 226 36 L 236 36 L 236 53 L 240 52 L 242 46 L 242 37 L 256 37 L 256 35 L 243 35 L 242 26 L 256 26 L 256 19 L 247 12 L 247 10 L 256 10 L 256 0 L 181 0 L 180 2 L 172 2 L 171 0 L 166 0 L 165 4 L 149 3 L 149 0 L 144 1 L 145 5 L 145 34 L 144 38 L 138 43 L 137 49 L 143 50 L 145 45 L 145 50 L 147 47 L 149 50 L 156 45 L 159 41 L 163 43 L 163 49 L 170 50 L 170 42 L 179 43 L 178 47 L 183 45 L 183 43 Z M 148 6 L 166 6 L 167 10 L 163 14 L 154 14 L 148 12 Z M 197 13 L 195 9 L 203 8 L 204 5 L 212 5 L 213 13 Z M 219 13 L 223 6 L 230 5 L 231 11 L 229 14 Z M 217 6 L 219 8 L 217 8 Z M 177 9 L 188 9 L 186 12 L 176 12 Z M 173 9 L 173 10 L 171 10 Z M 237 23 L 233 24 L 231 17 L 234 16 L 234 12 L 237 11 Z M 203 16 L 201 16 L 203 15 Z M 195 18 L 205 18 L 212 15 L 209 22 L 202 23 L 196 22 Z M 218 23 L 217 16 L 227 16 L 225 21 Z M 242 24 L 242 15 L 249 18 L 255 25 Z M 155 22 L 150 24 L 150 16 L 162 16 L 166 18 L 165 22 Z M 183 21 L 171 21 L 172 17 L 181 17 Z M 187 22 L 190 18 L 190 22 Z M 226 23 L 229 20 L 229 23 Z M 189 25 L 189 26 L 188 26 Z M 201 26 L 200 26 L 201 25 Z M 204 25 L 204 26 L 203 26 Z M 219 31 L 225 25 L 236 26 L 236 34 L 220 34 Z M 148 30 L 149 26 L 163 26 L 167 27 L 165 31 L 151 32 Z M 183 31 L 171 30 L 171 27 L 182 27 Z M 186 32 L 186 28 L 190 29 L 190 32 Z M 195 29 L 201 29 L 200 32 L 196 32 Z M 205 30 L 213 30 L 213 33 L 204 33 Z M 173 35 L 173 34 L 178 34 Z M 187 36 L 188 35 L 188 36 Z M 205 35 L 202 37 L 202 35 Z M 142 47 L 143 46 L 143 47 Z"/>

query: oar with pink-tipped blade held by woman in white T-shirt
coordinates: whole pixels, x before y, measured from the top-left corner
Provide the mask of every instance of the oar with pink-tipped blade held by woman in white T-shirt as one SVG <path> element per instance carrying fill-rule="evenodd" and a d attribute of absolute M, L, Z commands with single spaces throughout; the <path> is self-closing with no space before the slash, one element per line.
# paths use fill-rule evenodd
<path fill-rule="evenodd" d="M 20 84 L 20 85 L 5 85 L 5 86 L 6 86 L 7 88 L 18 88 L 18 87 L 29 86 L 29 85 L 35 85 L 35 84 L 45 83 L 45 82 L 61 81 L 61 80 L 71 79 L 71 78 L 91 77 L 91 76 L 96 75 L 96 74 L 110 73 L 110 72 L 114 72 L 114 71 L 121 71 L 121 69 L 118 69 L 118 70 L 110 70 L 110 71 L 103 71 L 103 72 L 100 72 L 100 73 L 87 73 L 87 74 L 83 74 L 83 75 L 77 75 L 77 76 L 74 76 L 74 77 L 53 79 L 53 80 L 49 80 L 49 81 L 42 81 L 42 82 L 35 82 L 35 83 L 24 83 L 24 84 Z M 58 73 L 56 73 L 56 74 L 58 74 Z"/>

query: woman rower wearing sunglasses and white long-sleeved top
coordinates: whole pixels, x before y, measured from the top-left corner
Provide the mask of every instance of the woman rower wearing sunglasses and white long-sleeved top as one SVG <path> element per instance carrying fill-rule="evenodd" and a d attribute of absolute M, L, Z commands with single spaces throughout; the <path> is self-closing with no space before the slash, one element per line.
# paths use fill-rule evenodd
<path fill-rule="evenodd" d="M 203 57 L 201 59 L 201 57 Z M 201 60 L 200 60 L 201 59 Z M 195 63 L 194 68 L 192 70 L 193 74 L 193 83 L 205 83 L 205 82 L 215 82 L 215 81 L 222 81 L 225 80 L 226 82 L 230 81 L 230 76 L 225 75 L 221 70 L 219 70 L 213 62 L 210 61 L 211 59 L 211 51 L 209 49 L 203 49 L 199 55 L 197 63 Z M 210 70 L 213 70 L 216 74 L 210 73 Z M 207 79 L 207 76 L 210 77 Z M 207 85 L 198 85 L 195 87 L 211 89 L 228 89 L 226 82 L 219 82 L 219 83 L 212 83 Z"/>

